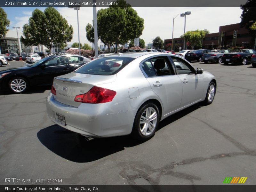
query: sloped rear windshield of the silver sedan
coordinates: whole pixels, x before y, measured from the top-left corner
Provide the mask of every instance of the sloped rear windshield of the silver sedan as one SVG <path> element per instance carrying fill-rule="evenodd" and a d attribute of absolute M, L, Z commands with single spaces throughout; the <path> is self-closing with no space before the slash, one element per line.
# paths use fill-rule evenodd
<path fill-rule="evenodd" d="M 91 75 L 114 75 L 128 65 L 134 58 L 129 57 L 103 57 L 92 60 L 75 73 Z"/>

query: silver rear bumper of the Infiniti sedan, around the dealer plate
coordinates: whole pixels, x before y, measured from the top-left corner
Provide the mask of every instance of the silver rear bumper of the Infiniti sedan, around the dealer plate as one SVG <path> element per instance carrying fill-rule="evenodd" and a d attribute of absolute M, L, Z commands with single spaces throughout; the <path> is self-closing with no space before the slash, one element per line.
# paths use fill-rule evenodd
<path fill-rule="evenodd" d="M 49 118 L 70 131 L 93 138 L 130 134 L 136 111 L 108 113 L 108 105 L 108 103 L 81 103 L 78 108 L 72 107 L 55 100 L 52 93 L 48 95 L 46 100 Z M 66 117 L 66 125 L 56 121 L 56 113 Z"/>

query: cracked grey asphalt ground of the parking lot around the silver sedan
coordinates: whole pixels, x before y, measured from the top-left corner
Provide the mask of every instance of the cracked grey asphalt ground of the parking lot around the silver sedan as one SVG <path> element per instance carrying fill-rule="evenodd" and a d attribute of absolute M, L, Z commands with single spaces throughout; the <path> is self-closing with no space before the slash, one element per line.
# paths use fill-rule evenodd
<path fill-rule="evenodd" d="M 14 67 L 25 65 L 12 61 Z M 144 143 L 129 136 L 85 141 L 46 114 L 50 87 L 0 94 L 0 184 L 6 177 L 61 179 L 52 185 L 222 185 L 256 183 L 256 68 L 192 62 L 217 78 L 211 105 L 164 119 Z"/>

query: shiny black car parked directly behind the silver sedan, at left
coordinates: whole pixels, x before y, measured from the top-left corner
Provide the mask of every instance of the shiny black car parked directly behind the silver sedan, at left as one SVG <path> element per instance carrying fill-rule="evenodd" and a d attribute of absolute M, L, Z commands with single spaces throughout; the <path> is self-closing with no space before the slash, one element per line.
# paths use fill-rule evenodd
<path fill-rule="evenodd" d="M 0 71 L 0 88 L 22 93 L 35 85 L 51 85 L 56 76 L 70 73 L 90 60 L 78 55 L 45 57 L 31 65 Z"/>

